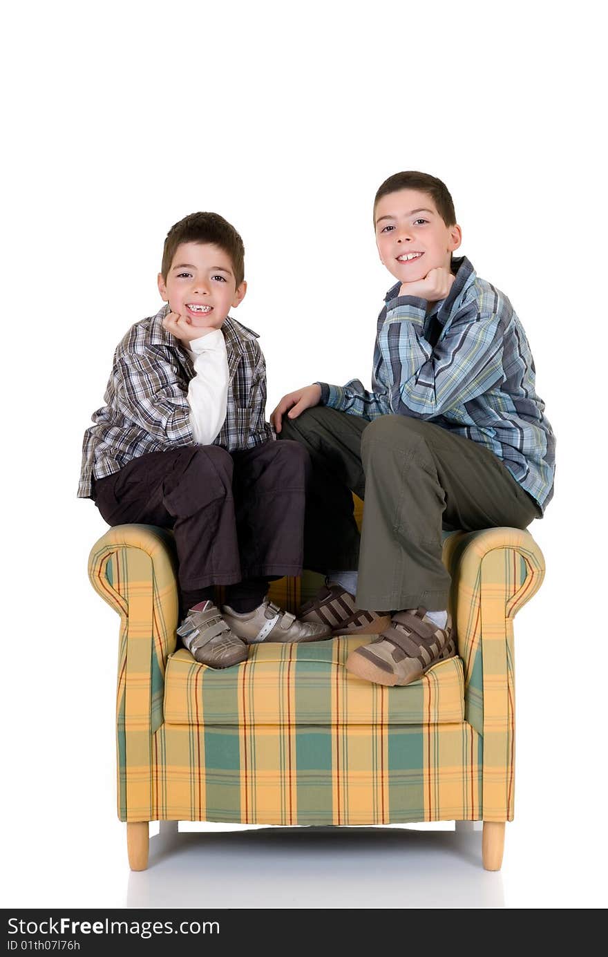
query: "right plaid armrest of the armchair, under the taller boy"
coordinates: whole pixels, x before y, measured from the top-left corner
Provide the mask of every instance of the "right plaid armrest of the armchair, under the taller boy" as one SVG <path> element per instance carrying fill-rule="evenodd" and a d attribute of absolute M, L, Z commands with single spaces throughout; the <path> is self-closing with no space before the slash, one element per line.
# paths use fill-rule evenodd
<path fill-rule="evenodd" d="M 513 816 L 513 618 L 540 588 L 543 553 L 528 531 L 488 528 L 450 536 L 443 561 L 464 669 L 464 717 L 484 739 L 484 820 Z"/>

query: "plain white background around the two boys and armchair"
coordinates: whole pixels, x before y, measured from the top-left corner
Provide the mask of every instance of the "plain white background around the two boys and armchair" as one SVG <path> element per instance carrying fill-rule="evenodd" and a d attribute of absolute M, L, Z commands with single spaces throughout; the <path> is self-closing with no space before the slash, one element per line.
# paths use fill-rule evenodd
<path fill-rule="evenodd" d="M 269 413 L 315 379 L 369 387 L 394 281 L 377 260 L 372 198 L 400 169 L 450 189 L 459 255 L 524 323 L 557 435 L 555 497 L 530 528 L 547 577 L 515 622 L 516 816 L 501 900 L 605 902 L 597 9 L 125 0 L 23 3 L 6 18 L 5 906 L 142 900 L 127 895 L 115 816 L 119 620 L 86 575 L 105 525 L 76 489 L 113 350 L 160 306 L 169 227 L 211 210 L 243 236 L 249 290 L 235 316 L 261 335 Z M 331 857 L 319 854 L 321 873 Z M 354 870 L 342 879 L 356 901 Z M 429 879 L 444 905 L 481 905 L 454 902 L 442 874 Z M 298 901 L 317 905 L 312 891 Z"/>

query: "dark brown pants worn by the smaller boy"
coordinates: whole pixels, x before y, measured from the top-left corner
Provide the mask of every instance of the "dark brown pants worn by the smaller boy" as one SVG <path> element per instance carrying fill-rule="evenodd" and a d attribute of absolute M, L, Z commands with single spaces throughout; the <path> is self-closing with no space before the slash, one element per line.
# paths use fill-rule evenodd
<path fill-rule="evenodd" d="M 110 525 L 172 528 L 180 590 L 193 591 L 301 573 L 309 470 L 297 442 L 180 446 L 96 479 L 93 498 Z"/>

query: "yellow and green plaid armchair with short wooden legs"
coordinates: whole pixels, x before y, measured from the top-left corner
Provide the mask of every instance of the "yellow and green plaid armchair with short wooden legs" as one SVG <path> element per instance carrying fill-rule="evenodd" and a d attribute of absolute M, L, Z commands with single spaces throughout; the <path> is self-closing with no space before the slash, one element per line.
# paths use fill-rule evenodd
<path fill-rule="evenodd" d="M 483 820 L 484 867 L 500 869 L 514 799 L 513 618 L 544 561 L 514 528 L 455 532 L 443 560 L 459 657 L 386 688 L 344 668 L 362 635 L 254 645 L 225 671 L 198 664 L 176 648 L 171 535 L 149 525 L 103 535 L 89 574 L 121 615 L 118 812 L 131 868 L 147 866 L 153 820 Z M 271 597 L 295 612 L 320 581 L 281 579 Z"/>

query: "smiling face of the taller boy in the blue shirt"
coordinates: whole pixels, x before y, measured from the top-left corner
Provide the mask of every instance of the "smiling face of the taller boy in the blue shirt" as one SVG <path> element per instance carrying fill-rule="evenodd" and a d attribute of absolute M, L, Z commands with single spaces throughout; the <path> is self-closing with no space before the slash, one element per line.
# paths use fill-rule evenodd
<path fill-rule="evenodd" d="M 423 279 L 439 267 L 449 270 L 462 242 L 461 227 L 446 226 L 432 197 L 417 189 L 382 196 L 373 218 L 380 261 L 401 282 Z"/>

